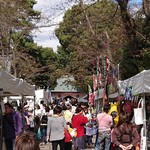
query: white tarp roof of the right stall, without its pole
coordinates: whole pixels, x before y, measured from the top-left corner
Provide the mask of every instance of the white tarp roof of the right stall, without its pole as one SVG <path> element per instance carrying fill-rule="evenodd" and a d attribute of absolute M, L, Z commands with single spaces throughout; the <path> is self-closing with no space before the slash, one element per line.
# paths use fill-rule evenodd
<path fill-rule="evenodd" d="M 126 87 L 132 87 L 132 94 L 150 93 L 150 70 L 143 70 L 135 76 L 118 81 L 119 94 L 125 94 Z"/>

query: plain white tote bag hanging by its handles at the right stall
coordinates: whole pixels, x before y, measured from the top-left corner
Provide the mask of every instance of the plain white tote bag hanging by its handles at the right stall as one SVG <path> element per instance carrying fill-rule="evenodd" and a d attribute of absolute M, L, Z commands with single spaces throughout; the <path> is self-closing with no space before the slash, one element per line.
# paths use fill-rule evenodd
<path fill-rule="evenodd" d="M 141 125 L 143 124 L 143 107 L 142 107 L 142 98 L 139 100 L 138 107 L 134 108 L 134 118 L 135 118 L 135 124 Z M 141 105 L 141 107 L 140 107 Z"/>

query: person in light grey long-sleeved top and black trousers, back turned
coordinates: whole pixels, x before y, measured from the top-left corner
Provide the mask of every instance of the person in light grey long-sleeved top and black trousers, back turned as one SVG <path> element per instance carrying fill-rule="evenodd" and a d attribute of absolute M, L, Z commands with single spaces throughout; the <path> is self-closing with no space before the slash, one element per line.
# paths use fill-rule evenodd
<path fill-rule="evenodd" d="M 54 107 L 54 114 L 48 117 L 47 123 L 47 141 L 52 142 L 52 150 L 57 150 L 58 145 L 60 150 L 64 150 L 64 131 L 67 130 L 67 124 L 63 117 L 62 108 L 60 106 Z"/>

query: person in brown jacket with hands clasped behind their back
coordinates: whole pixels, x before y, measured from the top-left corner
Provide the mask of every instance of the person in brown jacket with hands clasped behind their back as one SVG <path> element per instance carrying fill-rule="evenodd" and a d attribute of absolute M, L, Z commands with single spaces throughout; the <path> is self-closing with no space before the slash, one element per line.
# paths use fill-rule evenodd
<path fill-rule="evenodd" d="M 112 142 L 115 150 L 135 150 L 140 136 L 135 124 L 131 123 L 131 115 L 122 113 L 119 116 L 119 123 L 112 132 Z"/>

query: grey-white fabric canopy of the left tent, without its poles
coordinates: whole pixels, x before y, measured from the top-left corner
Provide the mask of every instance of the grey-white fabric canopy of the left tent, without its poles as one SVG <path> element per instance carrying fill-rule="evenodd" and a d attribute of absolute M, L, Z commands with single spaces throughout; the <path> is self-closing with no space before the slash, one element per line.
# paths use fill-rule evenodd
<path fill-rule="evenodd" d="M 3 89 L 3 95 L 5 96 L 35 95 L 35 86 L 28 84 L 23 79 L 15 78 L 3 69 L 0 69 L 0 89 Z"/>

